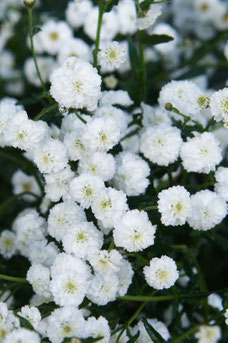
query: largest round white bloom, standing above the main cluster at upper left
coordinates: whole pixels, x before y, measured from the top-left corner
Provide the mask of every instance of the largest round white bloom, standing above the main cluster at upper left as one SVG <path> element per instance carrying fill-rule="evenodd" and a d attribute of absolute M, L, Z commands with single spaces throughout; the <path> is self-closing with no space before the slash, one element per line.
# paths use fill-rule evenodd
<path fill-rule="evenodd" d="M 96 109 L 101 77 L 90 63 L 69 57 L 53 71 L 50 81 L 50 93 L 61 107 Z"/>

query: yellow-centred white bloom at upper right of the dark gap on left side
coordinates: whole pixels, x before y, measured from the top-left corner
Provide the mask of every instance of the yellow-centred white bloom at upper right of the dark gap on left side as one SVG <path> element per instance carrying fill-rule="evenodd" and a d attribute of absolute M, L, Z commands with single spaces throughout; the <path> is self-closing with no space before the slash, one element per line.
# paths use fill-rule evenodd
<path fill-rule="evenodd" d="M 57 173 L 66 168 L 68 162 L 65 146 L 52 138 L 33 150 L 33 159 L 41 173 Z"/>

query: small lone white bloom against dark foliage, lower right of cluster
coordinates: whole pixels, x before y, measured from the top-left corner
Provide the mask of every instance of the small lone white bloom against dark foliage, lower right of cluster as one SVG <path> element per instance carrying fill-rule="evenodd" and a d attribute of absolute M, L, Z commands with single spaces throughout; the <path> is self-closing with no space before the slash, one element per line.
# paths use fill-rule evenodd
<path fill-rule="evenodd" d="M 172 287 L 179 277 L 175 261 L 168 257 L 154 257 L 149 267 L 143 268 L 146 282 L 155 289 Z"/>

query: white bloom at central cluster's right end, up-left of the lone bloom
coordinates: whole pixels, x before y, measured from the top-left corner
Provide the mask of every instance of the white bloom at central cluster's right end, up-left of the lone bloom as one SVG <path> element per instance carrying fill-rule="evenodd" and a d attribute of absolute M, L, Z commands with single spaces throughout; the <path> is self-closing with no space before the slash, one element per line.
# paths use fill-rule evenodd
<path fill-rule="evenodd" d="M 151 224 L 146 212 L 132 210 L 115 225 L 113 237 L 116 246 L 136 252 L 154 244 L 155 230 L 156 226 Z"/>

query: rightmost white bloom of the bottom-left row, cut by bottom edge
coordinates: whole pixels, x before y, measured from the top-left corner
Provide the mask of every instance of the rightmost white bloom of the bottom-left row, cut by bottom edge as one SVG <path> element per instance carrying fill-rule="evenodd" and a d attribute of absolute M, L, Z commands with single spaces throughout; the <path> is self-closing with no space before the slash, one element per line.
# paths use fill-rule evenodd
<path fill-rule="evenodd" d="M 111 333 L 108 326 L 108 321 L 104 317 L 100 316 L 98 319 L 96 319 L 95 317 L 88 318 L 87 330 L 89 331 L 89 337 L 103 337 L 99 340 L 99 342 L 109 343 Z"/>

